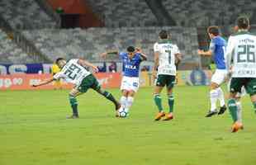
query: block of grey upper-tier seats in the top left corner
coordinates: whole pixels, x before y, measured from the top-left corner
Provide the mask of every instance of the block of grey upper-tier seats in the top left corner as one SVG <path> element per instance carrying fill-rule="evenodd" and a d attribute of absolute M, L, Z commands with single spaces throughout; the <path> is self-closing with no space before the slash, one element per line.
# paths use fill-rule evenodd
<path fill-rule="evenodd" d="M 55 28 L 57 22 L 34 0 L 0 0 L 0 15 L 13 29 Z"/>

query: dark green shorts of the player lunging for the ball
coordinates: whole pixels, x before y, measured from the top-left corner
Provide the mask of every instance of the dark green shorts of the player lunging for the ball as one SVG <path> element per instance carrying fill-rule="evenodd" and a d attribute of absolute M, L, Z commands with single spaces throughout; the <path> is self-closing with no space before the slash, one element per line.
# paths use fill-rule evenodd
<path fill-rule="evenodd" d="M 87 92 L 89 88 L 98 90 L 101 87 L 97 79 L 92 75 L 88 75 L 86 78 L 83 78 L 83 81 L 80 86 L 78 86 L 79 92 Z"/>

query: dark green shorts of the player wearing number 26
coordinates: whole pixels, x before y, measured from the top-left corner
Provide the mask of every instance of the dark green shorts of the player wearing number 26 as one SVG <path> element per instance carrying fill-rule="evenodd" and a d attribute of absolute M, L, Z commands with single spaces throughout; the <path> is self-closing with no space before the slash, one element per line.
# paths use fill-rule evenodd
<path fill-rule="evenodd" d="M 241 92 L 243 86 L 250 96 L 256 94 L 256 78 L 231 78 L 230 92 Z"/>

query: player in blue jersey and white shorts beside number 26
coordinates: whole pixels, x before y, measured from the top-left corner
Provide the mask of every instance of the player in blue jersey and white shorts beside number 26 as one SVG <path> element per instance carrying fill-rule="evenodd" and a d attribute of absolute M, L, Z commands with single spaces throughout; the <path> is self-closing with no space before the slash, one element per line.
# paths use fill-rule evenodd
<path fill-rule="evenodd" d="M 213 56 L 212 59 L 216 64 L 216 71 L 211 77 L 211 110 L 206 114 L 206 117 L 212 115 L 221 115 L 225 112 L 225 98 L 222 89 L 220 88 L 221 83 L 225 82 L 227 75 L 227 68 L 225 64 L 225 48 L 226 41 L 220 36 L 218 26 L 210 26 L 207 29 L 208 35 L 211 38 L 210 49 L 208 51 L 198 50 L 199 55 Z M 220 101 L 220 111 L 216 109 L 216 101 Z"/>

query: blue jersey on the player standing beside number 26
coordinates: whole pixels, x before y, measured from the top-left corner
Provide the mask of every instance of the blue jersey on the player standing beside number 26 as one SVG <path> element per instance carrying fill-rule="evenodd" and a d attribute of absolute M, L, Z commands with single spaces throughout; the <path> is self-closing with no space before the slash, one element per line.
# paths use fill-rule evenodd
<path fill-rule="evenodd" d="M 211 39 L 210 50 L 213 53 L 213 60 L 218 69 L 226 69 L 225 48 L 226 41 L 222 37 L 216 36 Z"/>

